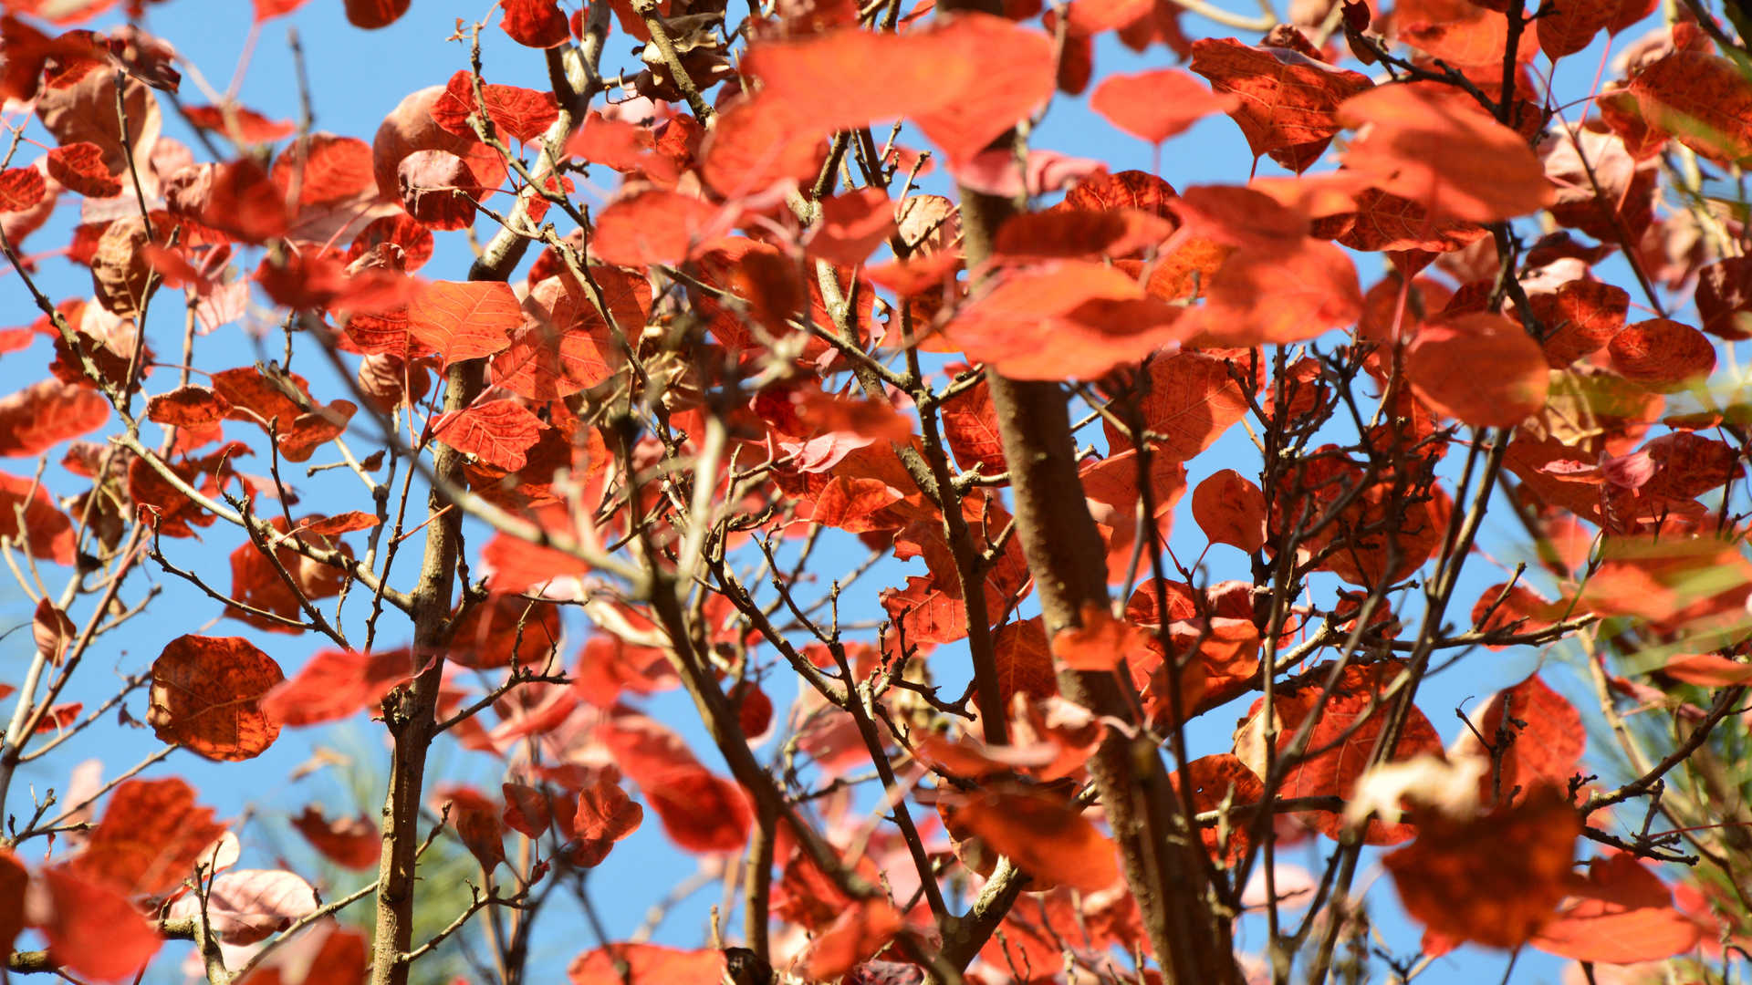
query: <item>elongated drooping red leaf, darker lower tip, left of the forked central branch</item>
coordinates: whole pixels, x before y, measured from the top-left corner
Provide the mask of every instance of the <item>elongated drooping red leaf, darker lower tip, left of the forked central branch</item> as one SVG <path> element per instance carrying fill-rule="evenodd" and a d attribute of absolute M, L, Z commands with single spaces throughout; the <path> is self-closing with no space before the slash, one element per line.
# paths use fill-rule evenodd
<path fill-rule="evenodd" d="M 741 787 L 694 759 L 682 736 L 636 713 L 596 729 L 620 771 L 639 785 L 664 833 L 689 852 L 736 852 L 748 841 L 752 815 Z"/>

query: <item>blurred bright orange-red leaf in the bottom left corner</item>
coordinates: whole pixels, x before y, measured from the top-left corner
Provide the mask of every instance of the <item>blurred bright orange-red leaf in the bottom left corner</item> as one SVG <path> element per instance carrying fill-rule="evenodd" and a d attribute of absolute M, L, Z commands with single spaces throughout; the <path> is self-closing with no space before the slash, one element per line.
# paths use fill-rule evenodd
<path fill-rule="evenodd" d="M 158 953 L 158 932 L 119 890 L 81 878 L 72 866 L 49 866 L 37 878 L 49 896 L 42 934 L 56 962 L 100 981 L 123 981 Z"/>

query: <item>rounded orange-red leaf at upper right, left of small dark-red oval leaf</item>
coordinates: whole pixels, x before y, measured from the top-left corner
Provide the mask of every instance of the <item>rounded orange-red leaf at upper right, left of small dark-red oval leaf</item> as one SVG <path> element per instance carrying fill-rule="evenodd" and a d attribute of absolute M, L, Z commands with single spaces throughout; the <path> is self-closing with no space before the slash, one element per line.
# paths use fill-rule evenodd
<path fill-rule="evenodd" d="M 1423 326 L 1405 375 L 1419 400 L 1475 428 L 1514 428 L 1545 407 L 1549 386 L 1538 342 L 1484 312 Z"/>

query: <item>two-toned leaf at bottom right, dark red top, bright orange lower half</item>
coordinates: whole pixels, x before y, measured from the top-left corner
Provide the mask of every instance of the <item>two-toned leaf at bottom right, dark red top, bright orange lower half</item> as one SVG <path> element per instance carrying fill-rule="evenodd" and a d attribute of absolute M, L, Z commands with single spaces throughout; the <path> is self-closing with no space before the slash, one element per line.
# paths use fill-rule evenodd
<path fill-rule="evenodd" d="M 1661 876 L 1635 855 L 1612 854 L 1587 862 L 1587 880 L 1528 943 L 1575 960 L 1636 964 L 1701 939 L 1703 927 L 1673 908 Z"/>

